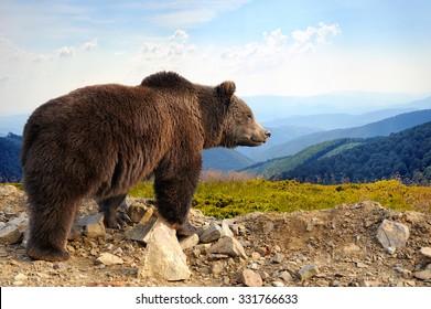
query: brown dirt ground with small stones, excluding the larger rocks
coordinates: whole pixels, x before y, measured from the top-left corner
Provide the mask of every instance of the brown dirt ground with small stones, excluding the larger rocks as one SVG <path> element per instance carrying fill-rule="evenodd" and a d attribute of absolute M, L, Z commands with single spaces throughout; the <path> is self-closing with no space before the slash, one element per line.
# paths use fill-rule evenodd
<path fill-rule="evenodd" d="M 129 199 L 128 202 L 142 201 Z M 25 211 L 22 191 L 0 190 L 0 222 L 7 223 Z M 86 201 L 79 215 L 96 212 L 96 204 Z M 192 222 L 197 225 L 215 220 L 200 212 L 193 214 Z M 376 238 L 385 219 L 401 223 L 410 231 L 407 246 L 392 254 Z M 31 260 L 21 242 L 1 244 L 0 286 L 244 286 L 239 277 L 245 268 L 258 274 L 263 286 L 431 286 L 431 278 L 427 276 L 427 271 L 431 271 L 431 259 L 420 253 L 421 248 L 431 247 L 430 214 L 399 213 L 375 202 L 363 202 L 323 211 L 251 213 L 228 222 L 239 226 L 236 238 L 248 258 L 186 249 L 192 270 L 187 280 L 139 278 L 146 247 L 126 237 L 126 231 L 131 228 L 128 226 L 107 230 L 104 238 L 79 235 L 68 241 L 72 257 L 62 263 Z M 101 253 L 114 253 L 123 264 L 95 264 Z M 310 278 L 301 277 L 304 266 L 319 270 Z"/>

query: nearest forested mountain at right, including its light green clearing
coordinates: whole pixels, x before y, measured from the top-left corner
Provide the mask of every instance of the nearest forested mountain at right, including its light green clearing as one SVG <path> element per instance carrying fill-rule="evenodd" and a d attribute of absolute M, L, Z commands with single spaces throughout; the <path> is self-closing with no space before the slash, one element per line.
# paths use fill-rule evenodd
<path fill-rule="evenodd" d="M 390 178 L 428 184 L 431 181 L 431 121 L 388 137 L 324 141 L 245 171 L 271 180 L 295 179 L 324 184 Z"/>

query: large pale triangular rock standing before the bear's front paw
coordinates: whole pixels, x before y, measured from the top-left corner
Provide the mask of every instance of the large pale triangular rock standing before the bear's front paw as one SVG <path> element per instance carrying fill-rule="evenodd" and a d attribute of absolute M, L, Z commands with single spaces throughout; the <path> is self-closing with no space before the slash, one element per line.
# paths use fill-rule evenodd
<path fill-rule="evenodd" d="M 158 220 L 146 237 L 147 251 L 138 277 L 168 281 L 188 279 L 186 256 L 176 238 L 176 231 Z"/>

